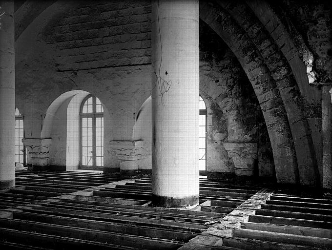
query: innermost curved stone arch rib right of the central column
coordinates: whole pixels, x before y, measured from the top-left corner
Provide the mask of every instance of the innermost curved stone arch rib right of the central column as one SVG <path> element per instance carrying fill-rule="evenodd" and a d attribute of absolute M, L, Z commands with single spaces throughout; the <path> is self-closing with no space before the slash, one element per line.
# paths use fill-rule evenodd
<path fill-rule="evenodd" d="M 260 53 L 221 6 L 201 1 L 200 18 L 232 50 L 254 88 L 268 127 L 278 182 L 299 183 L 295 147 L 291 139 L 287 112 Z"/>

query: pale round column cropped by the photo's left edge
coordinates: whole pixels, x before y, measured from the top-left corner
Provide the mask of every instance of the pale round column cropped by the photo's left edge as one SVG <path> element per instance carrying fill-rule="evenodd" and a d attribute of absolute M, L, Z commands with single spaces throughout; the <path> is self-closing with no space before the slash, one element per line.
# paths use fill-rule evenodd
<path fill-rule="evenodd" d="M 0 188 L 15 186 L 14 0 L 0 0 Z"/>

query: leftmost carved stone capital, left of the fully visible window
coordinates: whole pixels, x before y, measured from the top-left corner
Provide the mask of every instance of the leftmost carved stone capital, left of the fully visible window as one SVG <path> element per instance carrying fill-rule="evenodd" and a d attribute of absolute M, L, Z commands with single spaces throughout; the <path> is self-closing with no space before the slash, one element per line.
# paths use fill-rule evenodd
<path fill-rule="evenodd" d="M 49 148 L 52 145 L 52 139 L 22 139 L 27 154 L 27 163 L 34 166 L 48 166 Z"/>

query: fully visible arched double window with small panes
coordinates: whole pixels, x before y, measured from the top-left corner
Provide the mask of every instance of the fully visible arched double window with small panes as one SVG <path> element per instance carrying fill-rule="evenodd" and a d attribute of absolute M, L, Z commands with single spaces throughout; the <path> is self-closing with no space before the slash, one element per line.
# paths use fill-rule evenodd
<path fill-rule="evenodd" d="M 81 116 L 81 168 L 104 166 L 104 108 L 100 100 L 88 95 L 83 99 Z"/>

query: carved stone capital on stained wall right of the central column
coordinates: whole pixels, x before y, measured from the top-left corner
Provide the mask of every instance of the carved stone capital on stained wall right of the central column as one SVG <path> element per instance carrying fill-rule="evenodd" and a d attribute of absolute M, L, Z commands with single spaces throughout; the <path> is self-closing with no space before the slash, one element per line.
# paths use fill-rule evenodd
<path fill-rule="evenodd" d="M 232 158 L 237 176 L 253 175 L 255 159 L 258 157 L 256 143 L 224 143 L 228 157 Z"/>

